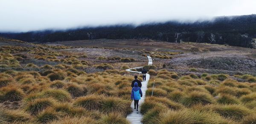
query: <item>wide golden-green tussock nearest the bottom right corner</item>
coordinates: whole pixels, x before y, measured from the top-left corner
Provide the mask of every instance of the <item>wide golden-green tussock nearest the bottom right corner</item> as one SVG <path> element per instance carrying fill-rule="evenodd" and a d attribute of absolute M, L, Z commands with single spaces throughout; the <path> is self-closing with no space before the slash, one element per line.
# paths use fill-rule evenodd
<path fill-rule="evenodd" d="M 237 121 L 241 120 L 244 116 L 251 114 L 249 109 L 237 104 L 216 107 L 215 111 L 224 118 L 231 118 Z"/>

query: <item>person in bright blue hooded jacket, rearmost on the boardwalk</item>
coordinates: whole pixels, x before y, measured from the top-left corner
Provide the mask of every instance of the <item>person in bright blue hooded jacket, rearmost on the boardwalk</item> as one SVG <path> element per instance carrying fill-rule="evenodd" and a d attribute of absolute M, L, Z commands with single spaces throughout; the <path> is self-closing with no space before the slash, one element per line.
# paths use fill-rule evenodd
<path fill-rule="evenodd" d="M 140 97 L 142 97 L 142 91 L 140 87 L 138 87 L 138 83 L 134 82 L 134 87 L 131 89 L 131 99 L 134 99 L 134 110 L 136 110 L 136 113 L 139 113 L 138 107 Z"/>

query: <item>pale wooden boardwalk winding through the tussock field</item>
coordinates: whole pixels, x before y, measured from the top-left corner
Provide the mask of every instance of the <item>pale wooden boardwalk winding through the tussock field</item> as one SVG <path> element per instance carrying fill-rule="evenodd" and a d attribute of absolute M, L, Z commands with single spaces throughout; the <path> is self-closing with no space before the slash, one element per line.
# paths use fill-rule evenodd
<path fill-rule="evenodd" d="M 148 65 L 153 65 L 152 58 L 150 56 L 147 56 L 147 57 L 148 57 Z M 137 67 L 137 68 L 143 68 L 143 67 Z M 138 71 L 132 71 L 131 70 L 131 69 L 137 69 L 137 68 L 126 69 L 126 71 L 133 72 L 133 73 L 141 73 L 141 72 L 138 72 Z M 147 73 L 146 81 L 141 82 L 141 84 L 142 84 L 141 90 L 142 90 L 143 96 L 139 101 L 139 113 L 136 113 L 136 110 L 132 109 L 133 110 L 132 113 L 130 113 L 126 117 L 131 122 L 131 124 L 143 124 L 141 122 L 142 118 L 143 118 L 143 115 L 140 113 L 140 105 L 145 100 L 145 93 L 146 93 L 146 90 L 147 90 L 147 85 L 148 85 L 149 78 L 150 78 L 150 75 Z M 134 108 L 134 101 L 131 102 L 131 108 Z"/>

